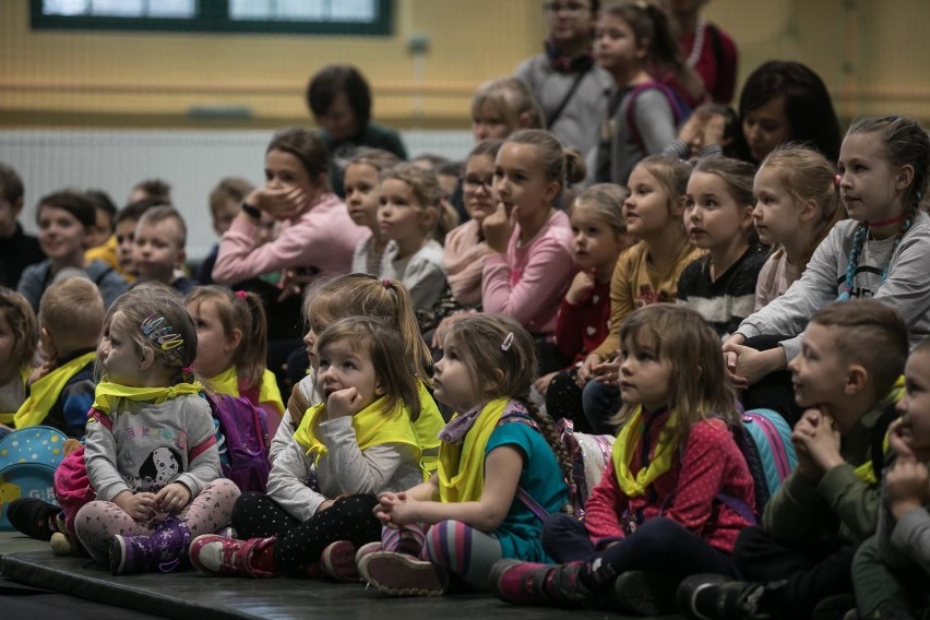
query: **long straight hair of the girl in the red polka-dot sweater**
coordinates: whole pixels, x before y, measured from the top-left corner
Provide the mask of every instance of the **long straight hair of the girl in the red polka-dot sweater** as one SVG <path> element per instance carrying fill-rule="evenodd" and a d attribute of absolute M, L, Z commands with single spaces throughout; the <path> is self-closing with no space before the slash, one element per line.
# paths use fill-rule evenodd
<path fill-rule="evenodd" d="M 672 439 L 684 440 L 695 424 L 710 418 L 731 427 L 740 424 L 720 338 L 698 312 L 671 303 L 639 308 L 620 326 L 620 343 L 622 349 L 630 343 L 648 344 L 659 362 L 671 366 L 666 405 L 677 414 L 675 426 L 669 427 Z M 635 409 L 624 404 L 611 421 L 621 425 Z"/>

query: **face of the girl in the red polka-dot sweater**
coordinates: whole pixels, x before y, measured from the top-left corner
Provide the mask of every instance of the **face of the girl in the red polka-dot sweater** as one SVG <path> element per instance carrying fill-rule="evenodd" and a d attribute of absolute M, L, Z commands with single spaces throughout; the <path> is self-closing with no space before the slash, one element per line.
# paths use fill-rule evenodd
<path fill-rule="evenodd" d="M 671 362 L 659 356 L 657 343 L 640 334 L 620 345 L 620 397 L 625 405 L 653 412 L 668 405 Z"/>

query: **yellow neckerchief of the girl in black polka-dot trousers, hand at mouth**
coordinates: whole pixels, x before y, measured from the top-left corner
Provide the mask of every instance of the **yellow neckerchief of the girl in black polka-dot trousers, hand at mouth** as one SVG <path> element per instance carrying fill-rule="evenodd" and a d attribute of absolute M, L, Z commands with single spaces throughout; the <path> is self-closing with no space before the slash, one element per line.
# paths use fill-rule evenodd
<path fill-rule="evenodd" d="M 366 408 L 351 417 L 351 428 L 355 430 L 355 439 L 359 450 L 365 452 L 374 445 L 382 443 L 406 443 L 419 450 L 417 433 L 410 424 L 410 416 L 402 401 L 391 412 L 384 412 L 386 397 L 381 396 Z M 325 415 L 326 404 L 313 405 L 303 415 L 300 426 L 294 433 L 294 439 L 303 448 L 307 455 L 317 454 L 314 463 L 329 452 L 329 448 L 317 439 L 313 428 L 321 414 Z"/>

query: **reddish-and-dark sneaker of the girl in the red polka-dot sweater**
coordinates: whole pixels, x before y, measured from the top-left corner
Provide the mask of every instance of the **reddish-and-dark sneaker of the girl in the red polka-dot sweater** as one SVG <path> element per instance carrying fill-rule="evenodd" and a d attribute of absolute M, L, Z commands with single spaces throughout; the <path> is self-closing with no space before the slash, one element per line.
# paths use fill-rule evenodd
<path fill-rule="evenodd" d="M 491 568 L 490 588 L 498 598 L 517 605 L 577 605 L 592 597 L 579 579 L 584 565 L 498 560 Z"/>

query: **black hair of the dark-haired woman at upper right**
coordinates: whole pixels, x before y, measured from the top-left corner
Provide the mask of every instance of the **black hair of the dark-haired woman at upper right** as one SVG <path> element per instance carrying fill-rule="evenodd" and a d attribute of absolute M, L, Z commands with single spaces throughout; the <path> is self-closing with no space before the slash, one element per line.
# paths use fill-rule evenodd
<path fill-rule="evenodd" d="M 770 60 L 752 72 L 739 97 L 739 118 L 768 102 L 785 98 L 785 117 L 790 126 L 790 142 L 819 151 L 831 163 L 839 158 L 839 120 L 820 75 L 800 62 Z M 752 155 L 742 132 L 737 134 L 740 158 Z"/>

